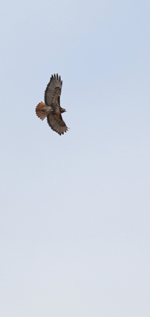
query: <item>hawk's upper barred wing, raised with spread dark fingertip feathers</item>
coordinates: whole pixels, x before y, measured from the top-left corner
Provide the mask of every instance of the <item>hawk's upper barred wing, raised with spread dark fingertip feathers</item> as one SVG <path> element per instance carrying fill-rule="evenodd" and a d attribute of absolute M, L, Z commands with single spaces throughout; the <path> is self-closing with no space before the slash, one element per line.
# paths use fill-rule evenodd
<path fill-rule="evenodd" d="M 44 100 L 47 106 L 54 107 L 55 110 L 60 107 L 60 94 L 61 94 L 62 81 L 58 74 L 54 76 L 52 75 L 50 82 L 48 83 Z"/>

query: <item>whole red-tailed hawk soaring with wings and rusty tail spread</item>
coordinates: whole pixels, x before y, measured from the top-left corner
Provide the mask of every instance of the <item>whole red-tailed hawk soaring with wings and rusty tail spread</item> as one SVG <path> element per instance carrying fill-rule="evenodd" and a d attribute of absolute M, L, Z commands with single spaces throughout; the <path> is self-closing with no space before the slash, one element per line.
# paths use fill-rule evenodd
<path fill-rule="evenodd" d="M 51 129 L 57 132 L 59 135 L 64 134 L 68 131 L 65 122 L 62 120 L 61 113 L 66 110 L 60 107 L 60 94 L 61 94 L 62 81 L 58 74 L 52 75 L 50 82 L 48 83 L 45 94 L 44 101 L 37 105 L 35 112 L 37 116 L 44 120 L 47 117 L 47 122 Z"/>

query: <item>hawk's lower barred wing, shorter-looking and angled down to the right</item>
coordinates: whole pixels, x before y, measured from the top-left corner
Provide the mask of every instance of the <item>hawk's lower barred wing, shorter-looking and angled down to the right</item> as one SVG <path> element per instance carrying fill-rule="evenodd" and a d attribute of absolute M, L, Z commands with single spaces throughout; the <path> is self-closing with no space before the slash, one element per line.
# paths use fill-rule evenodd
<path fill-rule="evenodd" d="M 51 129 L 57 132 L 59 135 L 64 134 L 64 132 L 68 131 L 65 122 L 62 120 L 61 113 L 50 113 L 47 116 L 47 122 Z"/>

